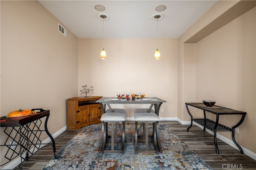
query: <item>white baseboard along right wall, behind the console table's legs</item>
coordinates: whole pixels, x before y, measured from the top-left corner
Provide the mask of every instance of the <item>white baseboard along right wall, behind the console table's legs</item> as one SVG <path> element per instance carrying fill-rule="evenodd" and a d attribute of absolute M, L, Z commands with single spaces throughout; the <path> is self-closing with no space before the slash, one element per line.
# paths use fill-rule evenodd
<path fill-rule="evenodd" d="M 201 129 L 204 129 L 204 127 L 202 125 L 199 125 L 198 123 L 194 123 L 193 122 L 193 124 L 198 126 L 198 127 L 200 127 Z M 213 131 L 210 131 L 209 129 L 205 129 L 205 131 L 213 135 Z M 218 139 L 222 140 L 223 142 L 227 143 L 228 145 L 234 147 L 235 149 L 239 150 L 238 147 L 234 144 L 234 142 L 232 140 L 230 140 L 230 139 L 228 139 L 228 138 L 226 138 L 226 137 L 224 137 L 224 136 L 222 136 L 222 135 L 220 135 L 218 133 L 217 133 L 216 137 Z M 244 148 L 242 146 L 240 146 L 240 147 L 242 148 L 244 154 L 246 154 L 250 158 L 256 160 L 256 153 L 254 153 L 254 152 L 252 152 L 252 151 L 250 151 L 250 150 L 248 150 L 248 149 L 246 149 L 246 148 Z"/>

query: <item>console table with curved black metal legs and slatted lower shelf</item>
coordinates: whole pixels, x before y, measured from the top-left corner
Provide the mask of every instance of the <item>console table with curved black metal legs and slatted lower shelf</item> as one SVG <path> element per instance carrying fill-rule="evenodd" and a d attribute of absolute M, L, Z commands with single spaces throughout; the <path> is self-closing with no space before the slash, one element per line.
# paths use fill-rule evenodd
<path fill-rule="evenodd" d="M 188 111 L 188 114 L 191 117 L 191 124 L 190 127 L 192 127 L 192 123 L 193 121 L 202 125 L 204 127 L 204 131 L 205 128 L 209 129 L 210 131 L 214 132 L 214 144 L 215 144 L 215 148 L 216 148 L 216 154 L 219 154 L 219 150 L 218 150 L 218 145 L 217 145 L 217 139 L 216 139 L 216 132 L 217 131 L 232 131 L 232 139 L 235 143 L 235 145 L 238 147 L 238 149 L 240 150 L 241 153 L 244 153 L 242 148 L 240 147 L 240 145 L 238 145 L 238 143 L 235 140 L 235 128 L 238 127 L 239 125 L 241 125 L 241 123 L 244 121 L 244 117 L 246 115 L 246 112 L 244 111 L 238 111 L 238 110 L 234 110 L 234 109 L 229 109 L 226 107 L 221 107 L 221 106 L 212 106 L 212 107 L 207 107 L 204 105 L 204 103 L 185 103 L 186 104 L 186 108 Z M 192 106 L 192 107 L 196 107 L 198 109 L 201 109 L 204 111 L 204 118 L 202 119 L 193 119 L 193 116 L 191 115 L 188 106 Z M 206 118 L 206 111 L 209 113 L 213 113 L 216 115 L 216 120 L 212 121 L 210 119 Z M 232 128 L 226 127 L 219 122 L 219 118 L 220 115 L 242 115 L 240 121 L 234 125 Z M 188 129 L 190 129 L 190 127 L 188 127 Z M 187 129 L 187 131 L 188 131 Z"/>

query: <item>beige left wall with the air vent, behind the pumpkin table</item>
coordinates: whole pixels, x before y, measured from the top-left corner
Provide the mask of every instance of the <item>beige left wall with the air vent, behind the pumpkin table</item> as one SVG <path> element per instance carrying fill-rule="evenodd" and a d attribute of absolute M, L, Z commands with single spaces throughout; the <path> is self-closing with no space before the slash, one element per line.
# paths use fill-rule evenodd
<path fill-rule="evenodd" d="M 48 129 L 56 133 L 66 126 L 66 99 L 78 91 L 78 38 L 69 30 L 64 37 L 59 21 L 38 1 L 0 3 L 1 116 L 50 109 Z M 1 164 L 3 155 L 1 147 Z"/>

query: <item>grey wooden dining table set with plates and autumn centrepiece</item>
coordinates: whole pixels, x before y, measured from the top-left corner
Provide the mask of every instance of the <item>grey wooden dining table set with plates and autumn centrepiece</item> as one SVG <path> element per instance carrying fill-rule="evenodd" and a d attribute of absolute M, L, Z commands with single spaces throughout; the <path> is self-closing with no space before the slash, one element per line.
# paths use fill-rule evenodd
<path fill-rule="evenodd" d="M 156 115 L 159 116 L 159 111 L 160 111 L 160 107 L 161 105 L 166 102 L 165 100 L 162 100 L 158 97 L 145 97 L 145 98 L 135 98 L 135 99 L 120 99 L 117 97 L 102 97 L 101 99 L 96 101 L 97 103 L 100 104 L 101 106 L 101 110 L 102 110 L 102 115 L 106 112 L 106 106 L 108 106 L 108 109 L 110 112 L 114 112 L 111 105 L 112 104 L 140 104 L 143 105 L 144 104 L 150 104 L 150 106 L 148 107 L 148 111 L 150 112 L 151 109 L 154 107 L 155 113 Z M 143 123 L 142 123 L 143 125 Z M 120 125 L 119 125 L 120 126 Z M 140 128 L 139 128 L 140 129 Z M 157 136 L 157 146 L 158 146 L 158 150 L 162 153 L 162 148 L 160 145 L 160 139 L 159 139 L 159 134 L 156 134 Z M 126 139 L 127 141 L 127 139 Z"/>

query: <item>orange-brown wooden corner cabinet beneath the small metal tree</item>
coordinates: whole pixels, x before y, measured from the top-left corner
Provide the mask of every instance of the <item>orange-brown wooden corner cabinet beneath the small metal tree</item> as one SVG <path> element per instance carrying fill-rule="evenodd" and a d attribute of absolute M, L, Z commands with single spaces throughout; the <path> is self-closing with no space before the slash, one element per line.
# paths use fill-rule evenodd
<path fill-rule="evenodd" d="M 100 123 L 101 108 L 96 103 L 102 96 L 75 97 L 67 100 L 68 129 L 80 129 Z"/>

